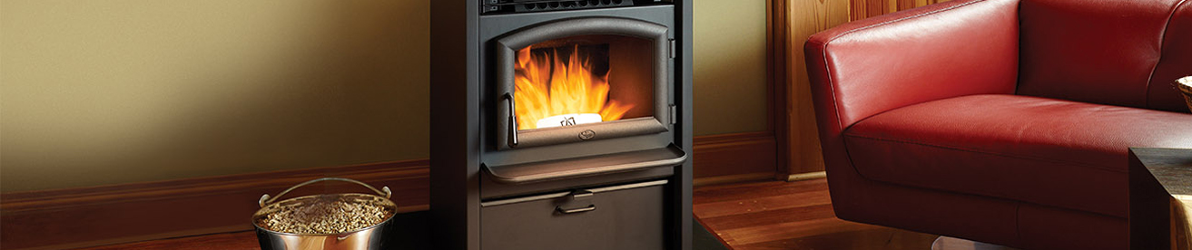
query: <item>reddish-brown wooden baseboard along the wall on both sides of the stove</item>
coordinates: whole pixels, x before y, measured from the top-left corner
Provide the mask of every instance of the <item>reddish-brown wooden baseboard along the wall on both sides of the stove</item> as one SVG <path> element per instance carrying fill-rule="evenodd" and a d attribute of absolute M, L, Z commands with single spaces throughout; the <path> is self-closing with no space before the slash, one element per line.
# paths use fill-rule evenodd
<path fill-rule="evenodd" d="M 774 137 L 734 133 L 695 138 L 695 175 L 775 173 Z M 337 176 L 387 186 L 401 212 L 429 208 L 428 160 L 0 194 L 0 249 L 69 249 L 253 230 L 261 194 Z M 296 190 L 360 192 L 327 182 Z"/>

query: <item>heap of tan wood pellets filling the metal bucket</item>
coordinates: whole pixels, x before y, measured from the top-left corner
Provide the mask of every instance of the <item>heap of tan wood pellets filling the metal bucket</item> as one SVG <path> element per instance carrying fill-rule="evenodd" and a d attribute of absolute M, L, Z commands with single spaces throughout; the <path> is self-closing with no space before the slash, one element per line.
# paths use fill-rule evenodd
<path fill-rule="evenodd" d="M 274 232 L 331 235 L 373 226 L 393 214 L 383 200 L 325 195 L 304 201 L 280 206 L 260 217 L 256 224 Z"/>

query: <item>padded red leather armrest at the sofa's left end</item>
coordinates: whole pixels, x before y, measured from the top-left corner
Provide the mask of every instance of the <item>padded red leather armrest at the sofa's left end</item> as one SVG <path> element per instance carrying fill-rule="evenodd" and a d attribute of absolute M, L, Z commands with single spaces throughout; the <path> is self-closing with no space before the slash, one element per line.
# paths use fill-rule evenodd
<path fill-rule="evenodd" d="M 803 49 L 821 133 L 924 101 L 1012 94 L 1018 0 L 954 0 L 868 18 L 815 33 Z"/>

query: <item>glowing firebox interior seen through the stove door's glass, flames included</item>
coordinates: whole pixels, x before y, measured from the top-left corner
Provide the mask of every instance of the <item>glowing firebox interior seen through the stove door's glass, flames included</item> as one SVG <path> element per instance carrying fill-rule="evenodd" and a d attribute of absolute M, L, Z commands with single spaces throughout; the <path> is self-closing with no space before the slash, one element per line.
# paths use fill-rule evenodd
<path fill-rule="evenodd" d="M 600 37 L 560 39 L 519 50 L 514 65 L 517 130 L 650 115 L 651 93 L 642 86 L 651 82 L 635 69 L 641 67 L 641 60 L 633 58 L 642 54 L 632 51 L 635 46 L 626 39 L 617 40 L 622 42 Z M 627 67 L 614 69 L 614 63 Z"/>

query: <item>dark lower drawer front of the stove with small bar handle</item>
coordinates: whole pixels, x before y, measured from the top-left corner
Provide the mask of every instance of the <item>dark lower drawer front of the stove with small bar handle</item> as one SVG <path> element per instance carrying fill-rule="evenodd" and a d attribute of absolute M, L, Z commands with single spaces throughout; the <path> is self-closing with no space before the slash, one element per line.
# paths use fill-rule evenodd
<path fill-rule="evenodd" d="M 486 201 L 480 249 L 665 248 L 666 181 Z"/>

